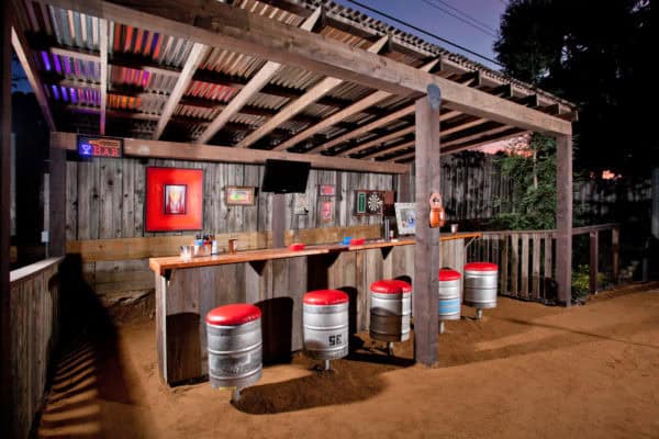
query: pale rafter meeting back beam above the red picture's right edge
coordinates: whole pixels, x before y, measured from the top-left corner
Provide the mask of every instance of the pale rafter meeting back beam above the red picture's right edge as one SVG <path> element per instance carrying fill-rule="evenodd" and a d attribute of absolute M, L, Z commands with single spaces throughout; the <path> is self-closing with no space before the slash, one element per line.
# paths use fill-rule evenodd
<path fill-rule="evenodd" d="M 321 8 L 311 14 L 300 26 L 305 31 L 311 31 L 319 18 L 321 16 Z M 258 93 L 281 67 L 280 63 L 267 61 L 260 70 L 252 77 L 249 82 L 245 85 L 241 91 L 231 100 L 228 105 L 210 123 L 205 131 L 197 138 L 196 143 L 208 143 L 222 127 L 233 117 L 241 109 L 249 102 L 249 100 Z"/>

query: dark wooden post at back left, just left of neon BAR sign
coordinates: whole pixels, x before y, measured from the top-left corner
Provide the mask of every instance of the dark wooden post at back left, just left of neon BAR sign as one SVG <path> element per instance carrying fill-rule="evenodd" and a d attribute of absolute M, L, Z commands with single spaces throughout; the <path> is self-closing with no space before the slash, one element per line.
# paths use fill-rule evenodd
<path fill-rule="evenodd" d="M 49 256 L 66 252 L 66 150 L 51 146 Z"/>

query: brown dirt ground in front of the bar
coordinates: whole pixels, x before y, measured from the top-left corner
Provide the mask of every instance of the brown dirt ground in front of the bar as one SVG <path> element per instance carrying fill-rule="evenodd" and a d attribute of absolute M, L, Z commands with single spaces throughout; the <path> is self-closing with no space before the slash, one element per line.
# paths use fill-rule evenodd
<path fill-rule="evenodd" d="M 467 316 L 473 311 L 463 308 Z M 54 378 L 38 436 L 107 438 L 659 438 L 659 285 L 584 306 L 500 297 L 448 322 L 436 368 L 370 348 L 319 373 L 297 354 L 266 367 L 237 405 L 208 383 L 158 378 L 154 323 L 79 334 Z"/>

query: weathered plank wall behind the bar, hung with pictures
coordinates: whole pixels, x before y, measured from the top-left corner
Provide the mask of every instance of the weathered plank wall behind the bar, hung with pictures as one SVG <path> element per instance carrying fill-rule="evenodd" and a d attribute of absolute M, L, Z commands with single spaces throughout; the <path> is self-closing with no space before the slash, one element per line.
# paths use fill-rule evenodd
<path fill-rule="evenodd" d="M 260 165 L 135 158 L 67 161 L 67 251 L 83 254 L 86 280 L 105 305 L 131 302 L 153 292 L 153 273 L 145 258 L 175 255 L 182 243 L 172 243 L 171 239 L 186 243 L 190 239 L 189 232 L 144 230 L 147 166 L 203 169 L 204 230 L 219 235 L 238 234 L 243 245 L 248 248 L 265 247 L 269 239 L 272 194 L 257 193 L 254 206 L 227 206 L 223 192 L 226 185 L 260 187 L 264 172 Z M 375 237 L 373 230 L 379 230 L 381 217 L 353 215 L 355 190 L 394 190 L 393 182 L 391 175 L 311 170 L 306 184 L 309 213 L 295 215 L 293 202 L 297 195 L 287 194 L 284 228 L 300 229 L 298 238 L 308 243 L 311 237 L 304 230 L 315 228 L 327 229 L 328 233 L 316 233 L 314 239 L 334 241 L 337 227 L 371 225 L 362 230 L 367 234 L 364 237 Z M 335 203 L 333 222 L 324 223 L 320 218 L 319 184 L 335 185 L 336 196 L 326 199 Z M 131 239 L 122 241 L 119 238 Z M 121 246 L 129 247 L 121 259 L 103 257 L 103 252 L 121 254 Z M 91 254 L 93 258 L 89 257 Z"/>

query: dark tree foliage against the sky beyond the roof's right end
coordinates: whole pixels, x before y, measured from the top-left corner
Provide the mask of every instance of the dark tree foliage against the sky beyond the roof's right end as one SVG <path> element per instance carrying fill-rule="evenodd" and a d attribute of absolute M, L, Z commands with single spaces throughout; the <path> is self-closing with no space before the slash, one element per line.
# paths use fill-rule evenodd
<path fill-rule="evenodd" d="M 578 104 L 578 167 L 638 171 L 659 157 L 651 3 L 512 0 L 502 15 L 494 50 L 505 71 Z"/>

